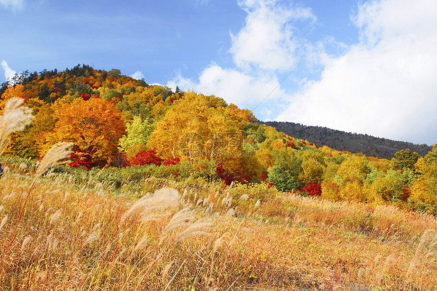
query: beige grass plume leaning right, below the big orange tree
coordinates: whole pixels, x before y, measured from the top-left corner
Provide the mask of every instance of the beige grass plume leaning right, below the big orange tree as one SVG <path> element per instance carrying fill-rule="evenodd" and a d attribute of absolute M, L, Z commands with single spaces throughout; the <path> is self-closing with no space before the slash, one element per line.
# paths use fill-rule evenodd
<path fill-rule="evenodd" d="M 44 155 L 43 159 L 40 162 L 40 165 L 38 166 L 37 172 L 35 173 L 34 180 L 32 181 L 32 184 L 30 184 L 29 192 L 32 190 L 32 188 L 35 186 L 35 182 L 37 179 L 44 174 L 45 171 L 47 171 L 49 168 L 68 163 L 68 160 L 65 161 L 59 161 L 63 160 L 68 157 L 69 154 L 71 154 L 73 151 L 70 148 L 73 146 L 73 143 L 68 142 L 58 142 L 57 144 L 53 145 L 49 151 Z"/>

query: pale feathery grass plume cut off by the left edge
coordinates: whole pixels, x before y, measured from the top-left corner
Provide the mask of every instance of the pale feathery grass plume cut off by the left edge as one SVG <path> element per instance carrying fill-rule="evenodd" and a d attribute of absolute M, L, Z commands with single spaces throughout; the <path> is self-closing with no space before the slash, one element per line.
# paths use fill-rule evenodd
<path fill-rule="evenodd" d="M 32 122 L 35 116 L 32 115 L 32 109 L 21 106 L 24 100 L 21 98 L 11 98 L 8 100 L 0 116 L 0 155 L 7 146 L 8 136 L 16 131 L 22 131 Z"/>

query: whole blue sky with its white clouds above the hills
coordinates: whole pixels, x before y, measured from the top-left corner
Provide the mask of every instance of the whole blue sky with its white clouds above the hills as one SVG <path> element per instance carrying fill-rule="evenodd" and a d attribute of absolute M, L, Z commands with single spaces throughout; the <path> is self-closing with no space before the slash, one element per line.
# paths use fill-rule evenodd
<path fill-rule="evenodd" d="M 0 82 L 85 63 L 260 120 L 437 143 L 434 0 L 0 0 L 0 25 Z"/>

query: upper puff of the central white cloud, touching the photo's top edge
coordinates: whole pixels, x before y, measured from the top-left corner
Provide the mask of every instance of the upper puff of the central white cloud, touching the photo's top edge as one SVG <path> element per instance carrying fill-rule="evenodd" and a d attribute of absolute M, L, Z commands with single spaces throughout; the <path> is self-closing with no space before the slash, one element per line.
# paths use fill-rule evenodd
<path fill-rule="evenodd" d="M 233 55 L 240 69 L 289 70 L 295 65 L 296 40 L 291 21 L 316 21 L 309 8 L 285 7 L 276 1 L 240 1 L 248 15 L 244 27 L 231 33 Z"/>

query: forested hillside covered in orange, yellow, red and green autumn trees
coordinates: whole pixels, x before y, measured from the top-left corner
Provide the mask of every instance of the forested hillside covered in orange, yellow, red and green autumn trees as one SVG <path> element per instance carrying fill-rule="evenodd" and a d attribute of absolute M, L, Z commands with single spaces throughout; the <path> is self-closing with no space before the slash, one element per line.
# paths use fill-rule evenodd
<path fill-rule="evenodd" d="M 289 127 L 278 131 L 217 96 L 178 88 L 173 92 L 116 69 L 86 65 L 63 72 L 24 72 L 3 84 L 1 93 L 0 114 L 10 116 L 16 98 L 33 111 L 23 131 L 11 134 L 8 143 L 0 140 L 5 141 L 0 161 L 11 167 L 14 158 L 40 160 L 53 145 L 69 142 L 70 162 L 56 171 L 85 179 L 82 171 L 102 169 L 99 179 L 116 191 L 155 177 L 188 184 L 234 183 L 237 193 L 247 192 L 261 202 L 274 189 L 437 214 L 437 145 L 422 147 L 422 157 L 410 144 L 402 149 L 388 141 L 380 151 L 373 143 L 369 156 L 353 154 L 334 149 L 336 144 L 302 138 L 300 130 L 280 132 Z M 320 131 L 324 136 L 332 132 Z M 350 140 L 365 147 L 364 141 L 371 139 Z M 370 156 L 386 152 L 393 158 Z"/>

